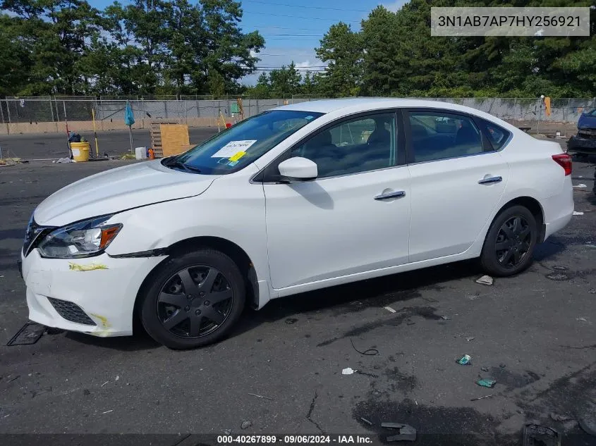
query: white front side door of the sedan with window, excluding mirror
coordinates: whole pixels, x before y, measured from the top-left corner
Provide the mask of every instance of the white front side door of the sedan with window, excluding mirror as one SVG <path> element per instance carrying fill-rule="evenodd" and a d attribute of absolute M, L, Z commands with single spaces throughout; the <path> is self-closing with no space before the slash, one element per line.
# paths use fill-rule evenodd
<path fill-rule="evenodd" d="M 264 195 L 274 288 L 408 262 L 410 175 L 397 125 L 394 111 L 335 121 L 272 164 Z M 279 182 L 276 166 L 293 156 L 315 161 L 318 178 Z"/>

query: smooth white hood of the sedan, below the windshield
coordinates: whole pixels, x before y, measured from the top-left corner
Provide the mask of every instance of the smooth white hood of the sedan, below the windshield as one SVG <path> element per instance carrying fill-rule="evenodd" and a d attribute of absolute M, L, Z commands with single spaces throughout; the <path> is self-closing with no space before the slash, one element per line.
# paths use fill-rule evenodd
<path fill-rule="evenodd" d="M 202 194 L 218 175 L 175 171 L 159 160 L 83 178 L 51 194 L 33 214 L 39 225 L 62 226 L 107 213 Z"/>

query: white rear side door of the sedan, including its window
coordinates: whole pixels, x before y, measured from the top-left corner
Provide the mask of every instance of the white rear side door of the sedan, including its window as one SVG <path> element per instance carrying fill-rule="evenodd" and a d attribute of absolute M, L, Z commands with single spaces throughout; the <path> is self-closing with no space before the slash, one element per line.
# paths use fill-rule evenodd
<path fill-rule="evenodd" d="M 465 252 L 499 203 L 509 166 L 480 118 L 440 109 L 409 109 L 403 116 L 411 177 L 410 262 Z"/>

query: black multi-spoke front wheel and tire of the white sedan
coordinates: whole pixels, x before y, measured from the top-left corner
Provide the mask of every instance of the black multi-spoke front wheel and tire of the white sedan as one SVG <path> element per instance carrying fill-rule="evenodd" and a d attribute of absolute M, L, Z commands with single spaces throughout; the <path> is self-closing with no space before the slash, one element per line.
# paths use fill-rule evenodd
<path fill-rule="evenodd" d="M 245 280 L 222 252 L 200 249 L 172 257 L 152 276 L 140 319 L 154 340 L 171 349 L 223 339 L 244 309 Z"/>

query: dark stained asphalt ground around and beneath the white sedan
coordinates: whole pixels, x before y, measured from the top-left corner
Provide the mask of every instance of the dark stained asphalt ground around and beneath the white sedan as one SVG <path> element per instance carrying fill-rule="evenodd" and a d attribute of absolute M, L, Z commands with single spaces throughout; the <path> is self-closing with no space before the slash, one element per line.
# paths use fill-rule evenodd
<path fill-rule="evenodd" d="M 122 163 L 0 168 L 0 443 L 17 444 L 6 434 L 145 433 L 160 434 L 153 445 L 188 446 L 227 430 L 384 442 L 380 423 L 392 421 L 416 428 L 415 444 L 521 445 L 525 423 L 556 428 L 563 446 L 596 444 L 578 425 L 596 423 L 593 164 L 573 166 L 573 183 L 588 186 L 574 193 L 583 215 L 537 248 L 528 271 L 492 286 L 475 283 L 482 271 L 468 261 L 274 300 L 204 349 L 59 330 L 7 347 L 28 320 L 15 262 L 30 213 L 60 187 Z M 463 354 L 471 365 L 456 364 Z M 343 375 L 347 367 L 355 373 Z M 481 388 L 479 378 L 497 385 Z"/>

